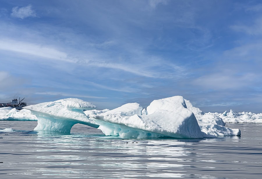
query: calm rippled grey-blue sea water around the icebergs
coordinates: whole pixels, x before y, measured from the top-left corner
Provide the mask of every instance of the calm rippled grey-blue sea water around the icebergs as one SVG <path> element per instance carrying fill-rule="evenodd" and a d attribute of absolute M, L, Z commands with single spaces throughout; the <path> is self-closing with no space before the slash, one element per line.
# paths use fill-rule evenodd
<path fill-rule="evenodd" d="M 0 121 L 0 178 L 262 178 L 262 124 L 230 124 L 241 137 L 118 139 L 75 125 L 70 135 Z"/>

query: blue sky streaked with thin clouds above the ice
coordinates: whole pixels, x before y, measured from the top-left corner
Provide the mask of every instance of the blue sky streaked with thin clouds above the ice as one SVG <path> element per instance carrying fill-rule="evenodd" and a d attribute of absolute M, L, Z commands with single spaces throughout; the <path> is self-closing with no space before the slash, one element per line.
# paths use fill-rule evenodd
<path fill-rule="evenodd" d="M 0 1 L 0 102 L 98 109 L 182 95 L 262 108 L 261 1 Z"/>

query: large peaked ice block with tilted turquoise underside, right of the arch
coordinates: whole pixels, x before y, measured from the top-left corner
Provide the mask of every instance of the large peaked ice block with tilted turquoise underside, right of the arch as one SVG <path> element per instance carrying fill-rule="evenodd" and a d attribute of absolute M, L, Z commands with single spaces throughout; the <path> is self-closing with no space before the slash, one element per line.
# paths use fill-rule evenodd
<path fill-rule="evenodd" d="M 89 115 L 106 135 L 122 138 L 203 138 L 194 114 L 182 96 L 154 100 L 142 115 L 138 103 L 128 103 L 98 115 Z"/>

